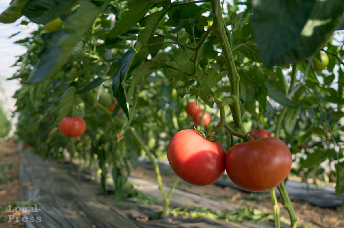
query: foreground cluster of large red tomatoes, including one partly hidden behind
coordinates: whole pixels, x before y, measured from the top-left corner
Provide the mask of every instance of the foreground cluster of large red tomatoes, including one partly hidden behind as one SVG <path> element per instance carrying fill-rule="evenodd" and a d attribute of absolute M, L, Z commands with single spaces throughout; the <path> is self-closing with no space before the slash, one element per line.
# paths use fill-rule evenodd
<path fill-rule="evenodd" d="M 194 185 L 217 181 L 226 170 L 229 178 L 248 191 L 265 191 L 280 184 L 291 168 L 291 153 L 283 141 L 270 137 L 267 130 L 253 130 L 259 139 L 224 146 L 186 129 L 175 134 L 168 145 L 167 157 L 173 171 Z M 254 135 L 253 135 L 253 138 Z"/>

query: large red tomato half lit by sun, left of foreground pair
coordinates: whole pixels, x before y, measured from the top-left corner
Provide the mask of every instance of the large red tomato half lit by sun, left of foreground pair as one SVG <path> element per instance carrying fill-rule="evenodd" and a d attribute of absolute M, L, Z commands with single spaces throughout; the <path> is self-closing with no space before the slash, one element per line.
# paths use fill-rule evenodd
<path fill-rule="evenodd" d="M 171 138 L 167 158 L 173 171 L 194 185 L 212 184 L 225 172 L 224 146 L 204 139 L 193 129 L 182 130 Z"/>

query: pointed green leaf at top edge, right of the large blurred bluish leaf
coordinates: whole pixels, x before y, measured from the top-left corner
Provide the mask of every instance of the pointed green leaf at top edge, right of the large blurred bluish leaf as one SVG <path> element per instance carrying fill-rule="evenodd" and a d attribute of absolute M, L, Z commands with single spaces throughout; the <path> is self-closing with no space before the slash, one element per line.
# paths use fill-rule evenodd
<path fill-rule="evenodd" d="M 152 8 L 152 1 L 131 1 L 128 5 L 128 12 L 121 18 L 107 36 L 118 36 L 128 32 L 132 26 L 136 25 Z"/>

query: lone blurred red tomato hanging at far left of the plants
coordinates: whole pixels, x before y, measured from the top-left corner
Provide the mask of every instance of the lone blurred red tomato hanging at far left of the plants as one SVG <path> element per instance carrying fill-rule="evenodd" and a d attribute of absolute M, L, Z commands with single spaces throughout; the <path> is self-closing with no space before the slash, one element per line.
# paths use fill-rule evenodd
<path fill-rule="evenodd" d="M 81 117 L 64 117 L 58 124 L 60 132 L 67 137 L 77 137 L 82 135 L 86 130 L 86 123 Z"/>

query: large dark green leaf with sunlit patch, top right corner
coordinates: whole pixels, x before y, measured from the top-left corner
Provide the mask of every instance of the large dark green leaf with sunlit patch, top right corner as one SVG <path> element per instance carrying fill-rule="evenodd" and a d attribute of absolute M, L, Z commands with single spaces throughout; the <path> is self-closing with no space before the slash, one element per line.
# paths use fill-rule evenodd
<path fill-rule="evenodd" d="M 252 1 L 252 5 L 252 29 L 268 66 L 312 55 L 344 20 L 342 1 Z"/>

